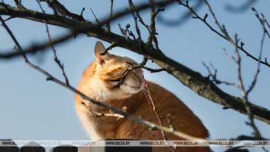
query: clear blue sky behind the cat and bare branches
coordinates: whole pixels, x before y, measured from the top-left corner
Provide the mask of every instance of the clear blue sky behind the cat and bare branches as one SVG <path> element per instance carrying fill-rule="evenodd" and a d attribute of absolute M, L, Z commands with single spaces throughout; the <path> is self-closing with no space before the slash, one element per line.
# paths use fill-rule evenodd
<path fill-rule="evenodd" d="M 85 7 L 84 18 L 89 21 L 95 21 L 90 8 L 95 12 L 98 19 L 102 20 L 109 15 L 109 0 L 90 2 L 90 1 L 60 1 L 66 8 L 80 14 L 82 7 Z M 237 3 L 238 2 L 238 3 Z M 260 40 L 262 37 L 261 25 L 256 19 L 254 13 L 247 9 L 244 12 L 230 12 L 224 6 L 231 4 L 239 6 L 244 1 L 210 1 L 213 10 L 217 15 L 219 22 L 224 23 L 229 34 L 237 33 L 238 37 L 246 44 L 244 47 L 252 55 L 258 56 L 260 49 Z M 14 6 L 11 1 L 6 1 Z M 38 10 L 35 0 L 23 1 L 26 8 Z M 127 1 L 115 1 L 114 12 L 127 7 Z M 45 3 L 42 3 L 46 12 L 51 12 Z M 262 0 L 254 3 L 259 12 L 263 12 L 270 21 L 269 1 Z M 177 19 L 186 9 L 181 6 L 170 6 L 161 12 L 160 16 L 166 19 Z M 199 15 L 204 16 L 207 12 L 206 7 L 199 10 Z M 149 23 L 149 10 L 141 12 L 146 23 Z M 213 19 L 207 20 L 213 23 Z M 130 15 L 118 19 L 111 23 L 111 30 L 120 35 L 118 23 L 125 27 L 127 23 L 132 26 L 135 32 L 134 20 Z M 19 40 L 23 48 L 31 44 L 47 40 L 45 25 L 25 19 L 12 19 L 7 21 L 8 26 Z M 143 28 L 143 27 L 141 27 Z M 179 26 L 168 26 L 157 21 L 156 31 L 159 33 L 159 47 L 163 53 L 179 63 L 188 66 L 192 70 L 198 71 L 207 76 L 207 70 L 202 61 L 206 64 L 211 62 L 218 69 L 217 77 L 228 82 L 237 82 L 236 65 L 228 58 L 224 51 L 225 47 L 233 54 L 233 46 L 221 37 L 211 32 L 201 21 L 197 19 L 188 19 Z M 60 36 L 68 30 L 49 26 L 52 37 Z M 147 31 L 141 30 L 143 39 L 147 38 Z M 94 59 L 93 47 L 98 39 L 80 35 L 76 39 L 64 44 L 55 46 L 69 81 L 72 86 L 76 86 L 80 80 L 84 68 Z M 8 36 L 4 28 L 0 28 L 0 51 L 11 50 L 14 46 L 12 39 Z M 107 42 L 103 42 L 109 46 Z M 269 39 L 265 39 L 263 57 L 270 57 Z M 110 53 L 131 57 L 136 61 L 142 61 L 143 57 L 132 53 L 123 48 L 114 48 Z M 255 61 L 242 55 L 245 86 L 249 86 L 255 67 Z M 28 55 L 29 59 L 38 66 L 44 68 L 49 73 L 59 79 L 63 79 L 62 73 L 57 64 L 53 61 L 53 53 L 48 49 L 44 53 Z M 147 66 L 158 68 L 158 66 L 149 62 Z M 46 77 L 41 73 L 27 66 L 21 57 L 6 60 L 0 59 L 0 139 L 12 140 L 89 140 L 87 133 L 82 128 L 80 121 L 75 113 L 74 94 L 55 84 L 47 82 Z M 270 109 L 269 82 L 270 69 L 261 66 L 261 73 L 258 77 L 258 83 L 249 99 L 254 104 L 264 106 Z M 222 110 L 222 106 L 199 97 L 181 82 L 177 81 L 168 73 L 149 73 L 145 71 L 145 78 L 151 79 L 161 86 L 167 88 L 176 94 L 189 108 L 204 122 L 204 125 L 210 131 L 211 139 L 229 139 L 237 135 L 251 135 L 251 127 L 244 123 L 247 116 L 233 110 Z M 226 93 L 241 97 L 240 91 L 232 86 L 219 86 Z M 263 137 L 270 137 L 269 125 L 255 121 Z M 253 149 L 260 151 L 261 149 Z"/>

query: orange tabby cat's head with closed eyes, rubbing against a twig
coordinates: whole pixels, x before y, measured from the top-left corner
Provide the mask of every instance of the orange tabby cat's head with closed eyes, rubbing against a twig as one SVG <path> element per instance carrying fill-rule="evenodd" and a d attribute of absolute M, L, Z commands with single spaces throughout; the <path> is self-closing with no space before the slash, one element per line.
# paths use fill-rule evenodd
<path fill-rule="evenodd" d="M 130 70 L 127 75 L 125 71 L 131 68 L 136 61 L 128 57 L 120 57 L 105 53 L 106 48 L 100 41 L 95 46 L 96 67 L 93 72 L 95 78 L 95 92 L 99 99 L 125 99 L 132 94 L 138 93 L 144 88 L 143 70 L 136 68 Z"/>

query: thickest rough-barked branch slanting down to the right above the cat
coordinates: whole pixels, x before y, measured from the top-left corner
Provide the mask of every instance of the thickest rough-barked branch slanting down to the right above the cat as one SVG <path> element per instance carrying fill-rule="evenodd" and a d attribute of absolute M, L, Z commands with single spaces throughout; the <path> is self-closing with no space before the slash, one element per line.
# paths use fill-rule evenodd
<path fill-rule="evenodd" d="M 107 41 L 109 43 L 117 42 L 118 46 L 126 48 L 128 50 L 132 50 L 135 53 L 143 55 L 147 59 L 151 59 L 161 68 L 166 69 L 168 73 L 179 79 L 179 81 L 182 84 L 188 86 L 190 89 L 192 89 L 192 91 L 195 91 L 195 93 L 197 93 L 198 95 L 201 95 L 202 97 L 205 97 L 206 99 L 209 99 L 210 101 L 213 101 L 217 104 L 222 104 L 223 106 L 232 108 L 235 111 L 239 111 L 240 113 L 246 114 L 246 109 L 244 107 L 244 104 L 242 103 L 243 99 L 224 93 L 224 91 L 220 90 L 217 86 L 215 86 L 215 84 L 213 84 L 213 82 L 203 77 L 200 73 L 197 73 L 191 70 L 190 68 L 187 68 L 182 64 L 179 64 L 177 61 L 174 61 L 169 57 L 166 57 L 159 50 L 156 50 L 155 48 L 148 46 L 147 44 L 143 44 L 145 49 L 142 50 L 141 43 L 139 41 L 126 39 L 125 37 L 116 35 L 113 32 L 108 32 L 100 28 L 101 23 L 104 24 L 107 23 L 107 21 L 111 21 L 118 17 L 122 17 L 123 14 L 126 14 L 124 12 L 121 12 L 120 14 L 116 13 L 116 15 L 113 15 L 109 19 L 100 21 L 100 24 L 98 24 L 98 26 L 93 26 L 93 24 L 91 23 L 81 23 L 78 21 L 74 21 L 72 19 L 68 19 L 66 17 L 59 17 L 54 15 L 42 15 L 41 12 L 35 12 L 32 10 L 18 10 L 17 8 L 11 6 L 7 7 L 8 9 L 6 9 L 3 6 L 0 6 L 0 15 L 21 17 L 33 21 L 39 21 L 42 23 L 43 23 L 42 20 L 46 19 L 49 24 L 55 26 L 61 26 L 72 30 L 75 30 L 75 28 L 76 29 L 79 28 L 82 29 L 79 32 L 83 32 L 89 36 L 102 39 L 103 41 Z M 149 7 L 149 5 L 148 6 L 144 5 L 143 7 L 147 8 Z M 136 7 L 135 9 L 138 10 L 139 8 L 142 9 L 143 7 L 142 6 Z M 60 40 L 64 41 L 65 39 L 69 39 L 72 37 L 72 35 L 74 35 L 74 33 L 65 35 L 64 37 L 58 39 L 57 42 L 59 43 Z M 55 41 L 52 41 L 52 44 L 54 42 Z M 44 48 L 44 44 L 42 44 L 41 46 L 43 46 Z M 51 46 L 51 44 L 48 46 Z M 37 47 L 36 50 L 38 49 L 39 47 Z M 267 108 L 263 108 L 255 104 L 251 104 L 251 108 L 253 111 L 253 115 L 256 119 L 270 123 L 270 111 Z"/>

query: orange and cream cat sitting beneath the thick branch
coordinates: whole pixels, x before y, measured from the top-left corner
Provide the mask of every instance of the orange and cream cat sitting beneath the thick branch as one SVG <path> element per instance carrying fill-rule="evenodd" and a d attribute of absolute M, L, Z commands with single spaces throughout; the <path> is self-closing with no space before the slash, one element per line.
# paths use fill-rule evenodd
<path fill-rule="evenodd" d="M 159 124 L 149 99 L 144 94 L 143 70 L 136 68 L 130 70 L 125 77 L 123 73 L 136 61 L 128 57 L 120 57 L 105 53 L 105 46 L 96 42 L 94 49 L 96 59 L 84 70 L 78 91 L 125 110 L 137 117 L 142 117 L 154 124 Z M 170 113 L 174 128 L 194 137 L 206 139 L 208 130 L 201 120 L 181 102 L 174 94 L 165 88 L 148 82 L 150 94 L 156 104 L 163 126 L 169 126 L 166 115 Z M 87 102 L 80 95 L 75 95 L 75 109 L 80 122 L 91 137 L 91 140 L 104 140 L 107 138 L 124 138 L 140 140 L 163 140 L 161 131 L 151 131 L 148 126 L 139 124 L 127 118 L 96 117 L 95 113 L 110 113 L 107 108 Z M 183 140 L 180 137 L 165 133 L 168 140 Z M 210 151 L 208 147 L 178 147 L 179 151 Z M 153 147 L 154 151 L 170 151 L 168 147 Z"/>

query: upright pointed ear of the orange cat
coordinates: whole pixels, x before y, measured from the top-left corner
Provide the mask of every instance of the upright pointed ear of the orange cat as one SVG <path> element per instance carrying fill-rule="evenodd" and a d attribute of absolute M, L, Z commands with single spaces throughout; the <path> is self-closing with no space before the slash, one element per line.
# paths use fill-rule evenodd
<path fill-rule="evenodd" d="M 105 46 L 103 46 L 103 44 L 100 41 L 96 42 L 95 55 L 96 55 L 96 59 L 100 61 L 100 64 L 105 63 L 105 61 L 109 59 L 110 57 L 109 53 L 106 53 Z"/>

